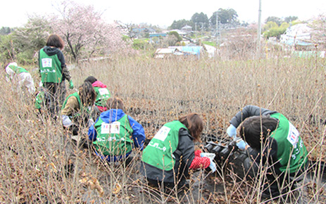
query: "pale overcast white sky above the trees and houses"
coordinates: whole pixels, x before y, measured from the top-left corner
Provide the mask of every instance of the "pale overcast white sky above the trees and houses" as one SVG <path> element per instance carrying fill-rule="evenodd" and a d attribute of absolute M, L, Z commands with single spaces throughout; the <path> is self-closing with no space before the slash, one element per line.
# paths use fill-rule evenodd
<path fill-rule="evenodd" d="M 326 14 L 326 0 L 261 0 L 262 22 L 269 16 L 284 18 L 297 16 L 308 20 Z M 4 0 L 1 4 L 0 27 L 19 27 L 27 23 L 27 15 L 54 13 L 54 0 Z M 169 26 L 173 20 L 190 20 L 194 13 L 205 13 L 208 18 L 219 8 L 233 8 L 240 21 L 258 21 L 259 0 L 77 0 L 80 4 L 94 5 L 96 11 L 104 11 L 108 22 L 120 20 L 123 23 L 149 23 Z"/>

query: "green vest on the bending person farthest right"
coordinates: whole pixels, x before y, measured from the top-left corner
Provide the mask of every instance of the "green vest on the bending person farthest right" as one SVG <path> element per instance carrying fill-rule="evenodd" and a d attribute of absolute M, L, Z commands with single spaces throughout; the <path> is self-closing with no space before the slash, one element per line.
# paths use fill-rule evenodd
<path fill-rule="evenodd" d="M 270 136 L 277 141 L 277 160 L 280 161 L 282 172 L 294 173 L 304 167 L 308 159 L 307 150 L 299 132 L 294 125 L 281 113 L 270 115 L 279 120 L 279 125 Z"/>

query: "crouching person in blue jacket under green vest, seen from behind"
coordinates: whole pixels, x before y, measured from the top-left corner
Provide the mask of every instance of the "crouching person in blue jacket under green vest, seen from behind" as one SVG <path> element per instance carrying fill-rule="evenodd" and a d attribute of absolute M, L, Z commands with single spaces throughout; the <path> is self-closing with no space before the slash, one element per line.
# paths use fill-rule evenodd
<path fill-rule="evenodd" d="M 124 113 L 125 108 L 120 98 L 108 98 L 106 107 L 108 110 L 101 113 L 89 128 L 89 140 L 93 141 L 96 155 L 103 160 L 125 160 L 128 165 L 132 160 L 132 148 L 143 150 L 144 127 Z"/>

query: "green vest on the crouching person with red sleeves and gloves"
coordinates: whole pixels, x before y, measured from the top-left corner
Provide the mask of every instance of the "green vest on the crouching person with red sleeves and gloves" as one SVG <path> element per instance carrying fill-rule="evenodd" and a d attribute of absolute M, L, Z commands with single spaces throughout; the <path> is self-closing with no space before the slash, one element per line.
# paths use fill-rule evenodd
<path fill-rule="evenodd" d="M 163 125 L 144 149 L 142 161 L 161 170 L 172 170 L 175 165 L 173 153 L 179 144 L 180 128 L 187 129 L 179 120 Z"/>

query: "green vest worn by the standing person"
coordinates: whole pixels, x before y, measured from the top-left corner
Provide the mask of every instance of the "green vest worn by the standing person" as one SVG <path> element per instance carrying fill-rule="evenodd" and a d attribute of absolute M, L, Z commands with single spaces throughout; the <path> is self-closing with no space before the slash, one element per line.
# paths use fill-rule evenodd
<path fill-rule="evenodd" d="M 62 68 L 58 56 L 48 56 L 43 49 L 39 51 L 39 70 L 42 82 L 61 83 Z"/>

